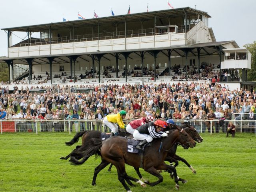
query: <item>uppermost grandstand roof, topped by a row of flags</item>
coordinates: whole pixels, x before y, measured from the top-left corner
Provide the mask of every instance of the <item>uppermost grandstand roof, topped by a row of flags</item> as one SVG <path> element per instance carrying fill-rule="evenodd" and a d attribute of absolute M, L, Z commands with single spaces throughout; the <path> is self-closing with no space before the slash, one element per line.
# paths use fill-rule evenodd
<path fill-rule="evenodd" d="M 117 16 L 108 16 L 108 17 L 100 17 L 100 18 L 90 18 L 83 20 L 74 20 L 74 21 L 66 21 L 66 22 L 56 22 L 56 23 L 48 23 L 48 24 L 39 24 L 39 25 L 30 25 L 30 26 L 21 26 L 21 27 L 12 27 L 12 28 L 2 28 L 1 30 L 10 30 L 10 31 L 22 31 L 22 32 L 40 32 L 44 30 L 49 30 L 51 27 L 52 30 L 58 28 L 68 28 L 68 27 L 82 27 L 86 24 L 97 24 L 106 23 L 106 22 L 124 22 L 124 18 L 126 21 L 138 21 L 138 20 L 148 20 L 152 19 L 155 16 L 158 17 L 174 17 L 184 15 L 184 11 L 188 16 L 194 14 L 202 14 L 208 18 L 211 16 L 207 14 L 207 12 L 196 10 L 190 7 L 184 8 L 176 8 L 176 9 L 168 9 L 168 10 L 159 10 L 159 11 L 151 11 L 151 12 L 142 12 L 142 13 L 134 13 L 134 14 L 125 14 L 125 15 L 117 15 Z"/>

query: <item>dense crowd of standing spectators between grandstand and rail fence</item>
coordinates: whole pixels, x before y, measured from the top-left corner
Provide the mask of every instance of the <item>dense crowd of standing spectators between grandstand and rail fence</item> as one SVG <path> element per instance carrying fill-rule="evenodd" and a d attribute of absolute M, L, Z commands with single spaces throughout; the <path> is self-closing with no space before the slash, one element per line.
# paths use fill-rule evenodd
<path fill-rule="evenodd" d="M 58 86 L 60 93 L 52 93 L 50 88 L 44 94 L 29 93 L 26 87 L 23 90 L 16 89 L 13 94 L 10 94 L 7 88 L 0 88 L 0 118 L 50 120 L 57 119 L 58 116 L 58 120 L 100 120 L 107 114 L 126 110 L 127 120 L 146 116 L 163 120 L 168 118 L 174 120 L 218 119 L 221 127 L 224 124 L 222 120 L 230 120 L 233 113 L 246 113 L 248 118 L 253 120 L 256 113 L 254 91 L 230 90 L 225 84 L 221 86 L 218 83 L 177 82 L 176 84 L 152 83 L 136 86 L 132 84 L 122 86 L 86 84 L 79 87 L 92 88 L 94 91 L 90 94 L 74 93 L 72 91 L 78 88 L 78 85 L 66 85 Z M 77 131 L 78 121 L 72 121 L 72 123 Z M 101 121 L 95 121 L 93 126 L 100 129 Z M 88 128 L 88 126 L 80 125 L 80 129 L 85 127 Z M 204 124 L 204 131 L 206 128 L 209 127 Z M 219 132 L 219 128 L 216 128 L 216 132 Z"/>

